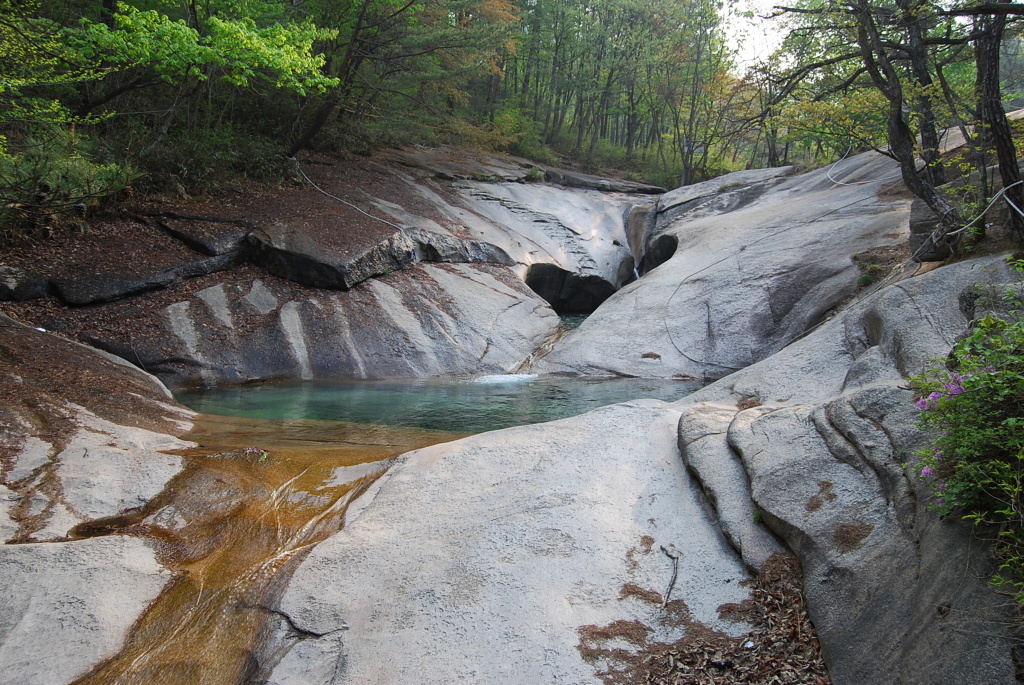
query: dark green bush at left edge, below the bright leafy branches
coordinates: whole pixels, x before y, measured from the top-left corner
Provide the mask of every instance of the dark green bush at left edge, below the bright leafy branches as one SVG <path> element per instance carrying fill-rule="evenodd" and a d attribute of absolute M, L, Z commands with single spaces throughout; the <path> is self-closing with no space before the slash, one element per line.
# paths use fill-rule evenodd
<path fill-rule="evenodd" d="M 0 154 L 0 243 L 59 231 L 137 177 L 127 164 L 101 161 L 74 128 L 23 138 Z"/>

